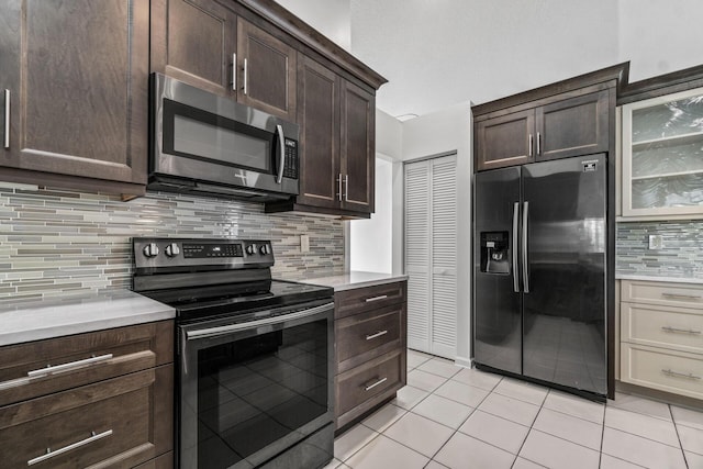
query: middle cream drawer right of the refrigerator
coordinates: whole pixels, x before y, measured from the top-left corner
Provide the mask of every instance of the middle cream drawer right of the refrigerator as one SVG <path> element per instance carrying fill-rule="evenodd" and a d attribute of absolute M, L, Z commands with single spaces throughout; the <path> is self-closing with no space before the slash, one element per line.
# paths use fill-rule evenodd
<path fill-rule="evenodd" d="M 621 303 L 621 337 L 623 342 L 703 354 L 703 313 Z"/>

